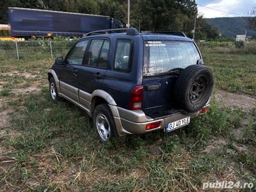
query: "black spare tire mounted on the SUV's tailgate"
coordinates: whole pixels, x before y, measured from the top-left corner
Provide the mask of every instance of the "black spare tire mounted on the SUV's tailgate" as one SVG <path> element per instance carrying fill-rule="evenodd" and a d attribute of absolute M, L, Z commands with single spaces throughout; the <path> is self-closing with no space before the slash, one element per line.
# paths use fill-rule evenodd
<path fill-rule="evenodd" d="M 189 112 L 202 109 L 211 97 L 213 76 L 204 65 L 189 65 L 175 83 L 177 107 Z"/>

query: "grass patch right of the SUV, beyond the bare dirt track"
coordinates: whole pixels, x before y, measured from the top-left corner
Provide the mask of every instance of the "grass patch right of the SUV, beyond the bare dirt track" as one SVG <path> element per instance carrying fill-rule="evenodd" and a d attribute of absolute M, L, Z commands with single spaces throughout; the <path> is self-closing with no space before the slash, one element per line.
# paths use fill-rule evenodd
<path fill-rule="evenodd" d="M 216 88 L 228 92 L 256 95 L 256 57 L 254 54 L 223 54 L 202 48 L 205 65 L 214 73 Z"/>

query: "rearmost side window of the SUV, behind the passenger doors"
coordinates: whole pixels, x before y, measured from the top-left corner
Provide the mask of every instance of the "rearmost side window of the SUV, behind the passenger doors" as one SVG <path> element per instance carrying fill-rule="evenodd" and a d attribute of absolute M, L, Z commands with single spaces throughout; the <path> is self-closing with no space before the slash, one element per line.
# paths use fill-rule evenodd
<path fill-rule="evenodd" d="M 131 61 L 131 41 L 118 40 L 116 43 L 116 55 L 114 68 L 116 70 L 127 71 Z"/>

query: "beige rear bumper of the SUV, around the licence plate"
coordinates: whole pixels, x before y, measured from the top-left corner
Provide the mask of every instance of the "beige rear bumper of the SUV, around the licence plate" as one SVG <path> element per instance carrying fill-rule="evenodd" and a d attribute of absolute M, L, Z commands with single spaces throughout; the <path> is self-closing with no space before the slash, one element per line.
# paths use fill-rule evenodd
<path fill-rule="evenodd" d="M 209 102 L 205 105 L 209 106 Z M 190 116 L 190 118 L 194 118 L 200 115 L 200 111 L 189 114 L 182 113 L 174 113 L 172 115 L 163 116 L 159 118 L 151 118 L 150 116 L 145 115 L 145 113 L 141 110 L 131 111 L 124 108 L 117 107 L 118 118 L 114 116 L 116 129 L 120 136 L 124 136 L 125 134 L 143 134 L 145 132 L 157 131 L 159 129 L 165 131 L 166 125 L 180 120 L 182 118 L 186 118 Z M 117 112 L 116 111 L 116 112 Z M 146 130 L 147 124 L 151 124 L 154 122 L 161 122 L 160 126 L 156 129 Z"/>

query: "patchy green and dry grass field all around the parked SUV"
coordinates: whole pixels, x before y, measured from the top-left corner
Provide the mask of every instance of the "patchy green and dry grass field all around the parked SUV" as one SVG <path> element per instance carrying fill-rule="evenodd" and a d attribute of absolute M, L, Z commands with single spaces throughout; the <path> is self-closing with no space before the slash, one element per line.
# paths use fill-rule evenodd
<path fill-rule="evenodd" d="M 129 136 L 124 144 L 102 145 L 84 111 L 67 101 L 51 102 L 46 74 L 52 60 L 45 52 L 35 54 L 36 58 L 28 56 L 20 61 L 0 60 L 0 70 L 5 73 L 0 76 L 0 113 L 13 110 L 9 123 L 0 126 L 1 190 L 198 191 L 209 180 L 256 184 L 255 109 L 245 113 L 239 108 L 221 108 L 213 97 L 211 109 L 187 127 L 168 134 L 159 131 Z M 237 58 L 246 60 L 244 68 L 253 68 L 254 60 L 248 55 L 203 54 L 214 71 L 217 88 L 224 84 L 223 68 L 225 76 L 238 81 L 232 75 L 232 62 L 238 66 Z M 222 61 L 225 66 L 220 66 Z M 21 75 L 6 74 L 14 71 Z M 22 76 L 24 72 L 36 76 Z M 250 78 L 254 78 L 251 71 L 244 70 L 244 79 Z M 29 86 L 40 88 L 40 92 L 12 93 Z M 236 92 L 254 93 L 243 89 L 246 91 Z M 243 119 L 248 119 L 245 127 Z M 243 138 L 239 140 L 230 132 L 241 127 Z M 214 143 L 220 138 L 226 145 Z M 241 145 L 247 150 L 237 150 Z"/>

